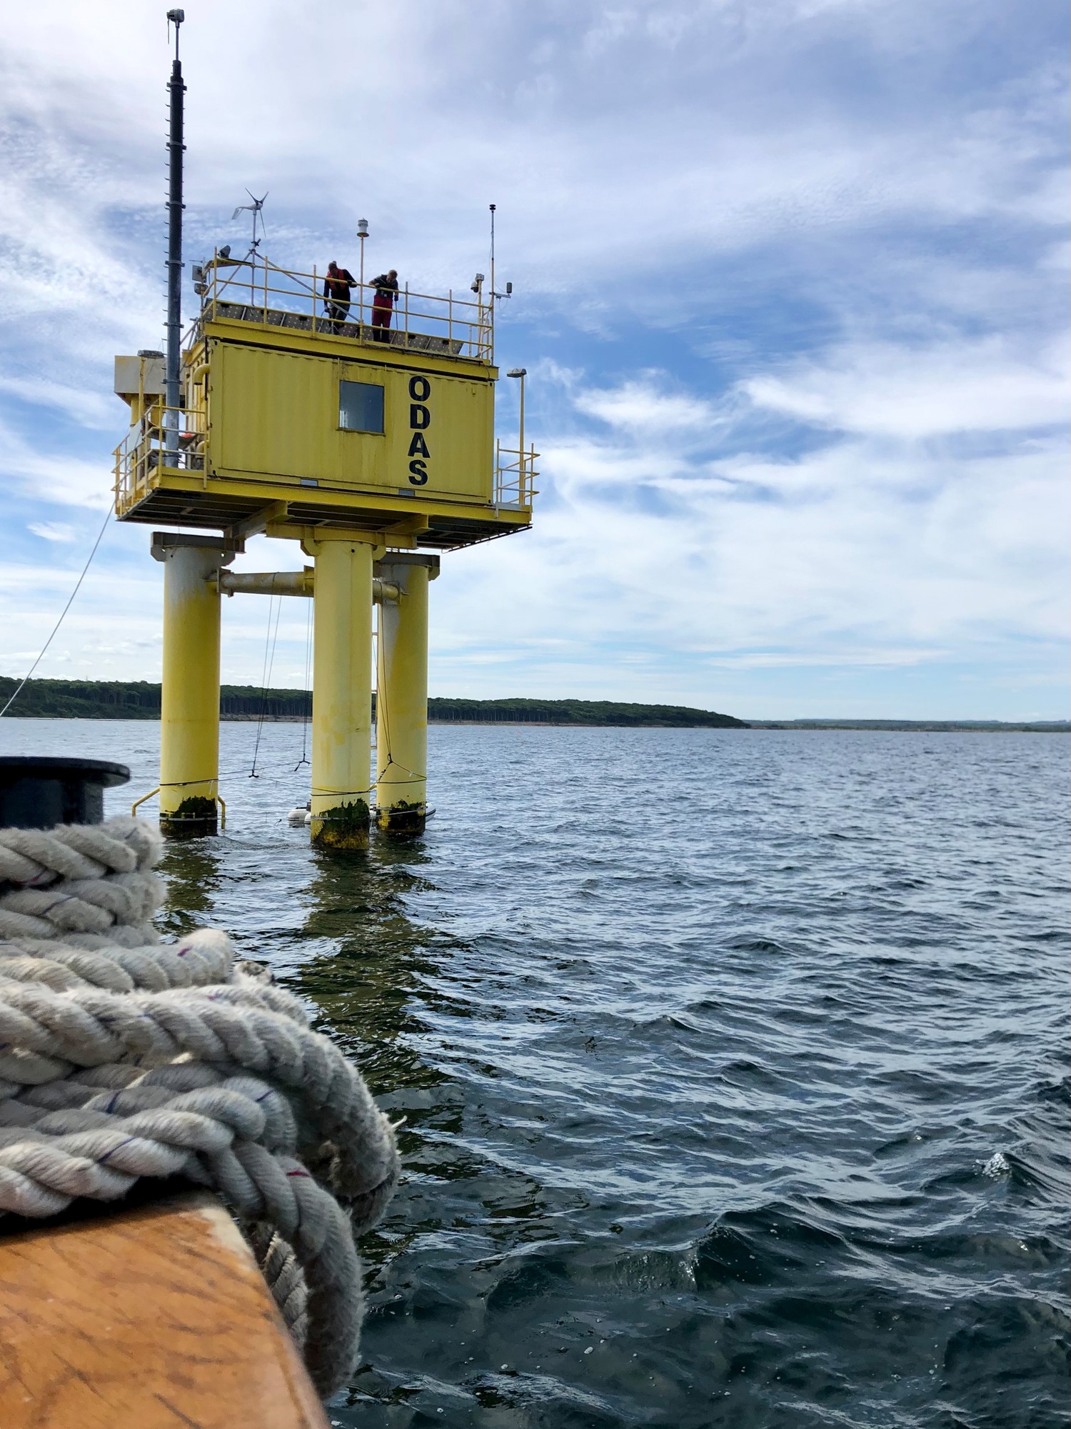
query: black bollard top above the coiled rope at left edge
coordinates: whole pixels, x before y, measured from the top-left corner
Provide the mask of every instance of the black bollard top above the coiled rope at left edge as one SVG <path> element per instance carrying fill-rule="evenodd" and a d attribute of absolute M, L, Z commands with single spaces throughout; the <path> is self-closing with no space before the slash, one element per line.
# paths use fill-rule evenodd
<path fill-rule="evenodd" d="M 126 765 L 106 759 L 0 757 L 0 829 L 51 829 L 100 823 L 104 790 L 130 779 Z"/>

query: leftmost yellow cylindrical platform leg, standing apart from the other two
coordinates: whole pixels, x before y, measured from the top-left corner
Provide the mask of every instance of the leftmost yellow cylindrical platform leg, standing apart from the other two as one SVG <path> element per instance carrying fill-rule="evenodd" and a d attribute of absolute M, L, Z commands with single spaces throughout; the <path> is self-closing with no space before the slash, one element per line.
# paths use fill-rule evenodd
<path fill-rule="evenodd" d="M 169 536 L 164 566 L 164 662 L 160 692 L 160 827 L 198 837 L 217 832 L 220 775 L 220 566 L 223 543 Z"/>

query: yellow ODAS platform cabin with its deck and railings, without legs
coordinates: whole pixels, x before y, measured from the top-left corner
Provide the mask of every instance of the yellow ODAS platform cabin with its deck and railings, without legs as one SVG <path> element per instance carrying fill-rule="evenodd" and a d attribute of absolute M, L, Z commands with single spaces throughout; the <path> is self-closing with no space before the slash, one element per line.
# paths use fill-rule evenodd
<path fill-rule="evenodd" d="M 131 392 L 136 360 L 116 362 L 133 417 L 116 453 L 120 520 L 234 539 L 327 526 L 440 550 L 530 526 L 534 453 L 494 442 L 483 302 L 406 293 L 384 332 L 370 293 L 353 320 L 330 319 L 316 274 L 233 267 L 208 267 L 180 412 L 147 400 L 143 379 Z"/>

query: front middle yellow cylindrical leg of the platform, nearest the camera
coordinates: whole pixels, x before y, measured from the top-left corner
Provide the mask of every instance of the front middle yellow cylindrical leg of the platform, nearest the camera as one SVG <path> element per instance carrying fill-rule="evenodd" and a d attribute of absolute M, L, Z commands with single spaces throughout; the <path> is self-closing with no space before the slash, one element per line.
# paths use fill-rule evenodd
<path fill-rule="evenodd" d="M 371 563 L 360 536 L 306 542 L 316 557 L 311 839 L 367 849 L 371 805 Z"/>

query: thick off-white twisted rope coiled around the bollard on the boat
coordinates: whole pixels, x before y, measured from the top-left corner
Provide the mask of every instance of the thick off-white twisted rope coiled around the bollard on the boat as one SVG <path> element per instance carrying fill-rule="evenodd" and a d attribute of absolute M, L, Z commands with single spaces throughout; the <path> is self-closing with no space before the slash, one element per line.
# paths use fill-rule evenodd
<path fill-rule="evenodd" d="M 157 940 L 160 849 L 130 817 L 0 829 L 0 1218 L 214 1189 L 327 1396 L 357 1365 L 354 1235 L 394 1192 L 394 1127 L 226 933 Z"/>

